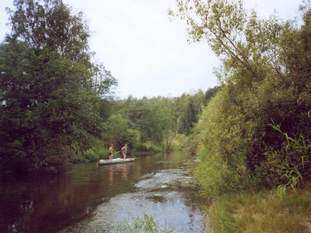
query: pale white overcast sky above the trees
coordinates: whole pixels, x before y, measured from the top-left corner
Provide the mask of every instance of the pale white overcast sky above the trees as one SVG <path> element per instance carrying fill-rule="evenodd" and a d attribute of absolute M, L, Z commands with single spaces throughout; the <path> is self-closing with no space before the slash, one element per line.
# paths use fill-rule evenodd
<path fill-rule="evenodd" d="M 0 41 L 10 31 L 5 7 L 13 0 L 0 0 Z M 219 59 L 204 43 L 187 42 L 187 25 L 169 20 L 175 0 L 63 0 L 82 10 L 93 31 L 90 47 L 118 80 L 116 95 L 180 96 L 217 85 L 213 68 Z M 268 17 L 275 10 L 284 19 L 299 16 L 300 0 L 244 0 Z"/>

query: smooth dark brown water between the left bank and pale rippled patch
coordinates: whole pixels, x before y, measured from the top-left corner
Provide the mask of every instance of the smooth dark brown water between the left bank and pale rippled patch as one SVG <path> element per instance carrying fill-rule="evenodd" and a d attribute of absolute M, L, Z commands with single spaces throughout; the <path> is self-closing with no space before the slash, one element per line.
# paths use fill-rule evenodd
<path fill-rule="evenodd" d="M 178 168 L 186 159 L 184 153 L 155 154 L 129 164 L 68 165 L 53 176 L 0 174 L 1 232 L 54 233 L 90 215 L 103 199 L 134 192 L 144 175 Z M 126 212 L 128 202 L 124 203 Z"/>

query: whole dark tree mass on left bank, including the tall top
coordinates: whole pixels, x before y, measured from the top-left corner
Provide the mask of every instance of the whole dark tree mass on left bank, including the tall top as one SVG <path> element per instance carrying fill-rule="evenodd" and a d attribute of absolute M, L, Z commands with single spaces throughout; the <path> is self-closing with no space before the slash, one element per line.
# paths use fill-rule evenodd
<path fill-rule="evenodd" d="M 106 128 L 102 108 L 117 84 L 92 62 L 83 14 L 60 0 L 14 1 L 0 47 L 0 162 L 62 164 Z"/>

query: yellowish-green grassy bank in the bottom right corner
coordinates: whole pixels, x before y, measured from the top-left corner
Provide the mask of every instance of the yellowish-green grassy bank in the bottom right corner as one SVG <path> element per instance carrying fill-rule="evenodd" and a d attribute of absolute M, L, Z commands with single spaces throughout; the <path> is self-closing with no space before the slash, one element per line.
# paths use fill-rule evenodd
<path fill-rule="evenodd" d="M 217 198 L 208 210 L 215 232 L 311 232 L 311 185 L 283 198 L 275 193 L 230 193 Z"/>

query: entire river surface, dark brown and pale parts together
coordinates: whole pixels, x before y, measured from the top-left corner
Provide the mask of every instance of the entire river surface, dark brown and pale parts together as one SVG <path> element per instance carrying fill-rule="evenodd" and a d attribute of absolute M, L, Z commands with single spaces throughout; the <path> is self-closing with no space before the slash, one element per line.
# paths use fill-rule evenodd
<path fill-rule="evenodd" d="M 188 187 L 183 152 L 147 155 L 129 164 L 68 165 L 57 175 L 0 177 L 1 232 L 111 232 L 143 213 L 175 230 L 202 232 L 200 199 Z"/>

